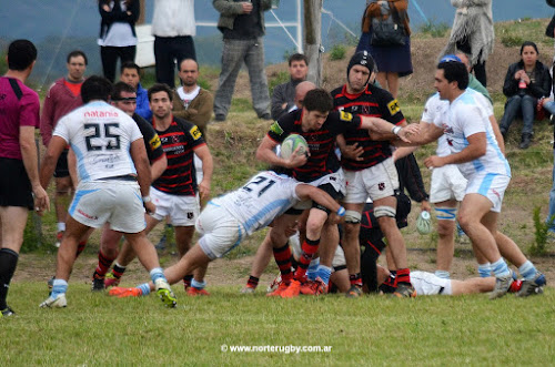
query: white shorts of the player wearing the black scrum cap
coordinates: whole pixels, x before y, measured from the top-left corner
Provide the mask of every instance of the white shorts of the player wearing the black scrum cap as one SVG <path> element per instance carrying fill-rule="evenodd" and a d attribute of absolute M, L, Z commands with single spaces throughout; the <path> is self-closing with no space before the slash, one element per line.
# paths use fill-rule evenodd
<path fill-rule="evenodd" d="M 344 203 L 365 203 L 370 196 L 372 201 L 393 196 L 398 188 L 398 174 L 393 159 L 387 160 L 362 171 L 345 170 L 346 195 Z"/>

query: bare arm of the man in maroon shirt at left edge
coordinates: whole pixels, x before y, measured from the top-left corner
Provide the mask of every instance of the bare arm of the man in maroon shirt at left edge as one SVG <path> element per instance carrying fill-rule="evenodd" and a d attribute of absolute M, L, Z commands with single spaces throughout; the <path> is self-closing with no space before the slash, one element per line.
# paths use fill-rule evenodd
<path fill-rule="evenodd" d="M 19 145 L 21 149 L 21 156 L 26 167 L 27 175 L 31 182 L 31 188 L 34 194 L 34 207 L 38 212 L 50 208 L 48 194 L 40 184 L 39 180 L 39 163 L 37 144 L 34 143 L 34 126 L 20 126 L 19 128 Z"/>

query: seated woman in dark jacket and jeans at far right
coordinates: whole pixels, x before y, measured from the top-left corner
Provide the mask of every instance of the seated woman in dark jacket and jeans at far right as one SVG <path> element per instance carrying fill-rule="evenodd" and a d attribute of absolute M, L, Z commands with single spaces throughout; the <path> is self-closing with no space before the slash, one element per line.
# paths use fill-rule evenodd
<path fill-rule="evenodd" d="M 507 103 L 500 130 L 505 137 L 521 111 L 523 115 L 521 149 L 527 149 L 531 144 L 537 100 L 548 96 L 552 90 L 549 70 L 537 60 L 537 45 L 531 41 L 524 42 L 521 47 L 521 61 L 508 67 L 503 84 L 503 94 L 507 96 Z"/>

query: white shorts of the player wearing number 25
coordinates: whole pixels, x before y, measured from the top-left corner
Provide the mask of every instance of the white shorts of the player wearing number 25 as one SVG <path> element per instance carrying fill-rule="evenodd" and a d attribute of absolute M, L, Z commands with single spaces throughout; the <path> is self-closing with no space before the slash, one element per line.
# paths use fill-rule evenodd
<path fill-rule="evenodd" d="M 71 217 L 89 227 L 139 233 L 147 227 L 139 184 L 133 181 L 80 182 L 69 206 Z"/>

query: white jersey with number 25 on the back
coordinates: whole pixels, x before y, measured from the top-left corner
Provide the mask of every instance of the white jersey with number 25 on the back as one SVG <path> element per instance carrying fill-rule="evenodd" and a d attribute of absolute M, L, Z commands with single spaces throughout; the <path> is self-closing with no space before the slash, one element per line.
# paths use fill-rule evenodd
<path fill-rule="evenodd" d="M 131 143 L 141 139 L 137 123 L 103 101 L 70 112 L 56 125 L 53 135 L 67 141 L 77 156 L 79 181 L 137 174 Z"/>

